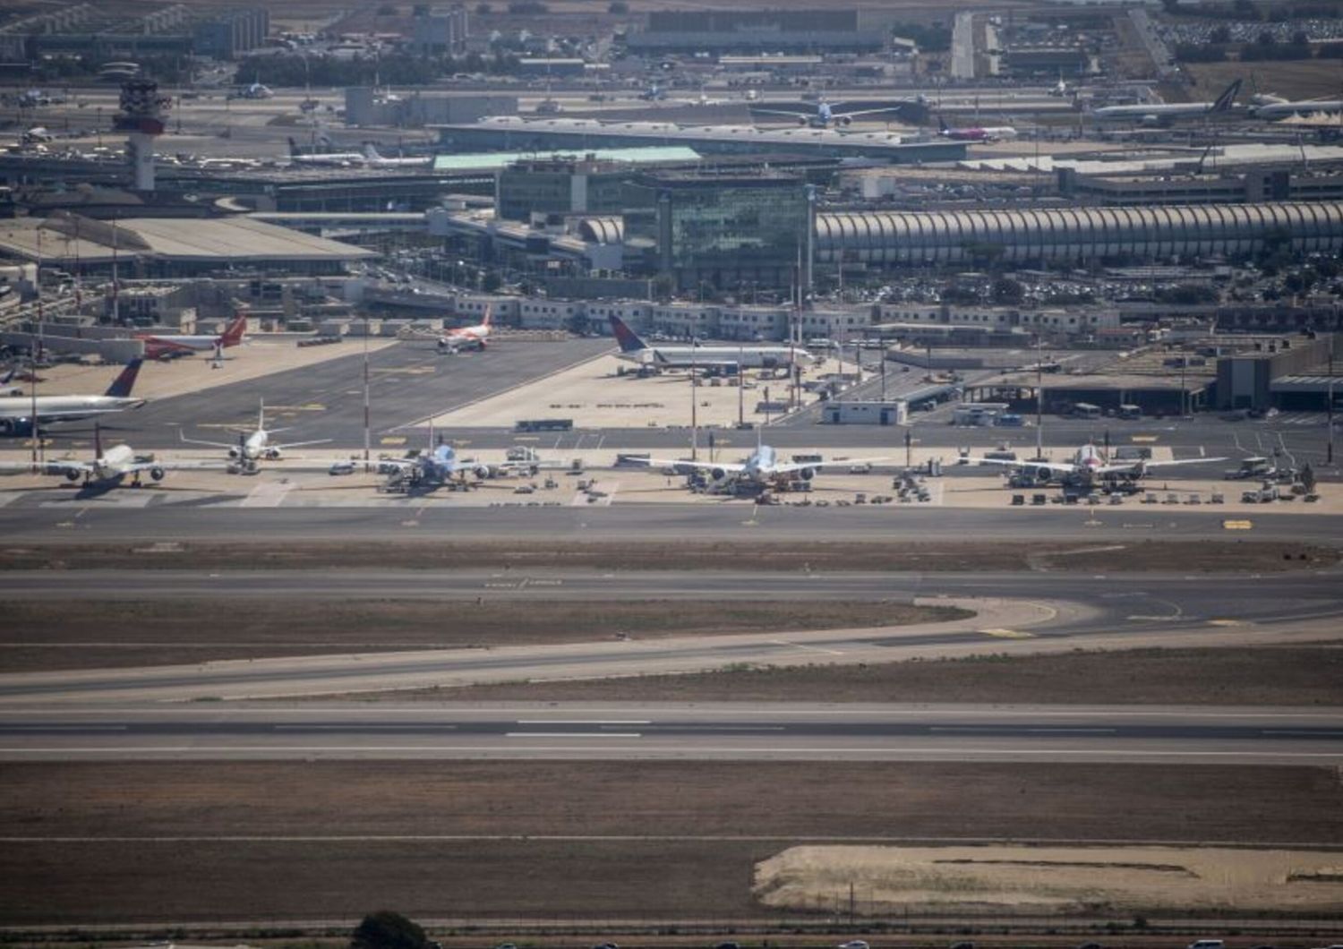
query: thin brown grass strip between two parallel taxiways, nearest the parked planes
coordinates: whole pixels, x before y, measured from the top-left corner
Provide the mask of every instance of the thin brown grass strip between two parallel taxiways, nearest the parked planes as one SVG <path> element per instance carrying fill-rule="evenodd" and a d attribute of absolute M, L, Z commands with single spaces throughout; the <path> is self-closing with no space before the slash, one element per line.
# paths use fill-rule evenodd
<path fill-rule="evenodd" d="M 0 570 L 38 569 L 608 569 L 608 570 L 1289 570 L 1336 564 L 1338 548 L 1276 541 L 1136 541 L 1115 550 L 1081 541 L 1023 545 L 842 542 L 743 548 L 737 542 L 442 544 L 191 542 L 154 550 L 140 544 L 26 544 L 0 548 Z"/>

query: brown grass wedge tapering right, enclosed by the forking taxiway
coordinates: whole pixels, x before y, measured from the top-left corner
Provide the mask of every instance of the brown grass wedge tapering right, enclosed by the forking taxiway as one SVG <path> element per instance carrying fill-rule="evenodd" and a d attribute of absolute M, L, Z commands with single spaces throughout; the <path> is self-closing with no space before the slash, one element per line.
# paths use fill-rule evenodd
<path fill-rule="evenodd" d="M 677 635 L 905 626 L 968 616 L 908 603 L 470 600 L 0 600 L 8 672 L 329 652 L 528 646 Z"/>

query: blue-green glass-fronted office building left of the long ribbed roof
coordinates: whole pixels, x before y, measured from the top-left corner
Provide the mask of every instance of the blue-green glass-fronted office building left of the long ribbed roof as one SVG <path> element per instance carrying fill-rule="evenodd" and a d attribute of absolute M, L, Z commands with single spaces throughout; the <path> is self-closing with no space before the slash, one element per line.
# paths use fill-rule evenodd
<path fill-rule="evenodd" d="M 794 174 L 665 173 L 637 179 L 626 236 L 680 290 L 787 286 L 804 254 L 806 187 Z"/>

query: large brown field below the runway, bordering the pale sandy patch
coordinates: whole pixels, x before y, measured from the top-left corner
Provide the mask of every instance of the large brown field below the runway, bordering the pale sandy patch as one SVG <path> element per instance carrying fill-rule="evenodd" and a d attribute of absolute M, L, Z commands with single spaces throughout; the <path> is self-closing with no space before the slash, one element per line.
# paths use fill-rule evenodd
<path fill-rule="evenodd" d="M 0 783 L 0 835 L 31 840 L 0 847 L 0 925 L 348 918 L 377 906 L 768 918 L 749 895 L 752 867 L 807 838 L 1319 847 L 1343 844 L 1340 797 L 1324 768 L 17 764 Z M 345 839 L 298 839 L 309 835 Z M 564 835 L 588 839 L 539 839 Z M 633 839 L 611 839 L 622 835 Z"/>

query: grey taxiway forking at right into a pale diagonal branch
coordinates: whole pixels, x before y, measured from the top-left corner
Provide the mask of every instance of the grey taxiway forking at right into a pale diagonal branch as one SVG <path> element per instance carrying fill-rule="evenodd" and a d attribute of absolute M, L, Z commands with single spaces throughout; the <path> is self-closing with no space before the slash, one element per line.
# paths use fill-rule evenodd
<path fill-rule="evenodd" d="M 898 627 L 590 640 L 496 648 L 281 656 L 187 666 L 0 675 L 0 705 L 115 707 L 128 702 L 218 702 L 704 672 L 741 666 L 886 663 L 986 652 L 1241 646 L 1335 639 L 1343 603 L 1336 575 L 1174 579 L 1053 573 L 752 573 L 286 570 L 99 572 L 71 587 L 60 573 L 11 575 L 24 597 L 171 600 L 443 600 L 445 621 L 474 599 L 913 600 L 963 605 L 972 616 Z M 20 592 L 21 591 L 21 592 Z M 674 608 L 672 605 L 667 607 Z M 371 631 L 373 632 L 373 631 Z M 1191 683 L 1197 687 L 1197 683 Z"/>

